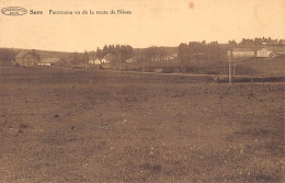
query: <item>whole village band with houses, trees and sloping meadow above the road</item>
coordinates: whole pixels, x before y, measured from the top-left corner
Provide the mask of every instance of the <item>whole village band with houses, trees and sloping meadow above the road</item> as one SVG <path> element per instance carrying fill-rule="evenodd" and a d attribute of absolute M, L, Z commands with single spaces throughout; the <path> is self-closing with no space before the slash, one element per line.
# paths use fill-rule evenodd
<path fill-rule="evenodd" d="M 145 49 L 136 49 L 128 45 L 106 45 L 96 52 L 84 53 L 10 50 L 10 55 L 18 54 L 7 57 L 8 61 L 1 64 L 24 68 L 58 67 L 94 71 L 209 75 L 216 79 L 224 78 L 224 81 L 219 80 L 220 82 L 231 80 L 228 78 L 229 72 L 231 77 L 243 77 L 242 81 L 247 80 L 244 77 L 275 77 L 273 81 L 284 80 L 285 46 L 280 43 L 269 45 L 264 42 L 258 45 L 229 43 L 223 45 L 190 42 L 189 45 L 181 44 L 179 47 L 151 46 Z M 266 69 L 267 67 L 271 70 Z M 235 81 L 238 82 L 237 79 Z"/>

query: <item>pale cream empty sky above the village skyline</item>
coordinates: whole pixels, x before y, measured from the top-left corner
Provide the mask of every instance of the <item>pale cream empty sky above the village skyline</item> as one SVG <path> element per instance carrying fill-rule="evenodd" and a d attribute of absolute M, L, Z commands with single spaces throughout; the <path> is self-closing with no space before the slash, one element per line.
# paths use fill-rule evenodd
<path fill-rule="evenodd" d="M 5 7 L 22 7 L 27 13 L 0 13 L 0 47 L 84 52 L 105 44 L 142 48 L 285 38 L 285 0 L 0 0 L 0 9 Z M 30 14 L 31 10 L 43 14 Z M 81 14 L 49 14 L 49 10 Z M 89 13 L 82 14 L 83 10 Z M 90 10 L 132 14 L 90 14 Z"/>

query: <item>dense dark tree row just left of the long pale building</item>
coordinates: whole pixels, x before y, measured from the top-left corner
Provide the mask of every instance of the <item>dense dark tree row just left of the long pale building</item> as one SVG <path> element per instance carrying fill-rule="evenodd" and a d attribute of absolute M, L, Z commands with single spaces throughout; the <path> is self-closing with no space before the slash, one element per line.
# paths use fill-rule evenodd
<path fill-rule="evenodd" d="M 206 44 L 203 42 L 190 42 L 181 43 L 178 48 L 178 59 L 182 64 L 190 61 L 192 59 L 195 60 L 219 60 L 223 56 L 223 48 L 218 44 L 218 42 L 210 42 Z"/>

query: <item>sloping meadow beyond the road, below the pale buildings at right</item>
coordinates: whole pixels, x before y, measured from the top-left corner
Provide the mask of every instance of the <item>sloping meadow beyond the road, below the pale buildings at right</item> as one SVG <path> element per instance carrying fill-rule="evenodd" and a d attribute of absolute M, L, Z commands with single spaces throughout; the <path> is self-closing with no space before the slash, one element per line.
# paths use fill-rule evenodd
<path fill-rule="evenodd" d="M 232 60 L 233 61 L 233 60 Z M 285 58 L 247 58 L 235 59 L 237 76 L 264 76 L 264 77 L 284 77 L 285 76 Z M 145 67 L 146 71 L 156 72 L 186 72 L 198 75 L 228 75 L 228 58 L 220 61 L 215 60 L 191 60 L 184 66 L 178 60 L 157 61 L 157 62 L 133 62 L 123 65 L 125 70 L 141 71 Z"/>

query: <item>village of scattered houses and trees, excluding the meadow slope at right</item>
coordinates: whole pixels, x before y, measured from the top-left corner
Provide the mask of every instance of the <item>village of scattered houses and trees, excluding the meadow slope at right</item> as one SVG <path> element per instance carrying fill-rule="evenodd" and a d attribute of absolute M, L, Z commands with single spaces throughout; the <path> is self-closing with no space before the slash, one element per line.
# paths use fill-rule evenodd
<path fill-rule="evenodd" d="M 231 57 L 237 64 L 244 60 L 252 62 L 271 62 L 282 60 L 285 55 L 285 46 L 267 45 L 220 45 L 191 43 L 179 47 L 149 47 L 145 49 L 132 48 L 128 45 L 109 45 L 96 52 L 86 53 L 55 53 L 44 54 L 41 50 L 11 50 L 16 55 L 3 58 L 1 65 L 14 67 L 67 67 L 92 70 L 132 70 L 149 72 L 187 72 L 182 67 L 198 67 L 212 65 L 227 65 Z M 193 48 L 191 48 L 193 47 Z M 182 50 L 185 49 L 185 50 Z M 213 49 L 213 53 L 212 53 Z M 4 52 L 4 50 L 3 50 Z M 59 56 L 59 57 L 57 57 Z M 9 60 L 10 59 L 10 60 Z M 225 73 L 216 71 L 217 75 Z"/>

